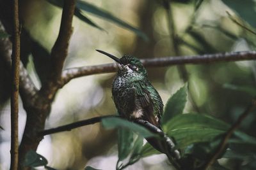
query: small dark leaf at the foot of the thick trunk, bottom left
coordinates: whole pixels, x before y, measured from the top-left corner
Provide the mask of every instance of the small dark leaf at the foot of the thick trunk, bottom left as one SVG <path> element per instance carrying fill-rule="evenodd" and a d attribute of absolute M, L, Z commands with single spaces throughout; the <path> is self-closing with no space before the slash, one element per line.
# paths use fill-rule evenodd
<path fill-rule="evenodd" d="M 48 164 L 45 157 L 36 153 L 33 150 L 29 150 L 26 153 L 25 160 L 23 162 L 23 166 L 29 167 L 38 167 L 38 166 L 46 166 Z"/>

